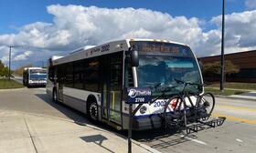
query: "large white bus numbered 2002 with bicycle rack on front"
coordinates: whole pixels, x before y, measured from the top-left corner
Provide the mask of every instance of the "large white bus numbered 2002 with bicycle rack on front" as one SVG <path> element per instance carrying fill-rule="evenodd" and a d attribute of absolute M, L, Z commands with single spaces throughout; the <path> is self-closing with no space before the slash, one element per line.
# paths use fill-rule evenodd
<path fill-rule="evenodd" d="M 135 52 L 137 58 L 133 57 Z M 132 68 L 134 60 L 138 66 Z M 123 89 L 134 85 L 154 88 L 159 83 L 169 86 L 175 84 L 175 78 L 202 83 L 197 57 L 189 46 L 158 39 L 125 39 L 50 58 L 47 93 L 53 101 L 92 120 L 127 129 L 129 105 L 125 104 Z M 203 92 L 202 87 L 194 90 Z M 159 96 L 160 91 L 153 90 L 152 94 Z M 174 94 L 170 92 L 168 97 Z M 144 104 L 133 117 L 133 129 L 160 128 L 166 100 L 162 97 L 152 105 Z"/>

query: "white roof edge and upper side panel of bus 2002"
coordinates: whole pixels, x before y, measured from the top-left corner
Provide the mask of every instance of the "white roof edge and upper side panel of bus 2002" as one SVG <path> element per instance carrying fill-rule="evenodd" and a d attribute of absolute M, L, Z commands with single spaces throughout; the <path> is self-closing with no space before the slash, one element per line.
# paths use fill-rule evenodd
<path fill-rule="evenodd" d="M 177 44 L 181 46 L 187 46 L 186 44 L 177 43 L 169 40 L 162 40 L 162 39 L 144 39 L 144 38 L 123 39 L 123 40 L 112 41 L 112 42 L 103 44 L 101 46 L 93 46 L 90 48 L 87 48 L 86 46 L 84 46 L 77 50 L 72 51 L 68 56 L 63 56 L 55 59 L 54 57 L 52 57 L 51 58 L 52 65 L 55 66 L 59 64 L 72 62 L 72 61 L 77 61 L 84 58 L 90 58 L 93 56 L 102 56 L 102 55 L 107 55 L 115 52 L 128 50 L 128 48 L 130 47 L 130 44 L 129 44 L 130 41 L 163 42 L 163 43 L 172 43 L 172 44 Z"/>

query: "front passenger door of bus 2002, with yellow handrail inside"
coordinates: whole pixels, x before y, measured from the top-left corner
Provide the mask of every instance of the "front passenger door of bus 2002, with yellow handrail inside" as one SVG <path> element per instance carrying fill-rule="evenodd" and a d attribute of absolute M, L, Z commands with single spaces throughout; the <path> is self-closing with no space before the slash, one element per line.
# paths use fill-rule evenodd
<path fill-rule="evenodd" d="M 123 53 L 102 57 L 102 117 L 109 122 L 122 124 Z"/>

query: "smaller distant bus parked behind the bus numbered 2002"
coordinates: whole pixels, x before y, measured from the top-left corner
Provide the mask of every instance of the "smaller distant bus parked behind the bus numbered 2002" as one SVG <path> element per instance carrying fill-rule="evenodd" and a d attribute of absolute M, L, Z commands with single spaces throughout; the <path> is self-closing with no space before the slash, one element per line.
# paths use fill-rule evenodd
<path fill-rule="evenodd" d="M 47 69 L 42 67 L 24 68 L 23 85 L 27 87 L 46 87 Z"/>

